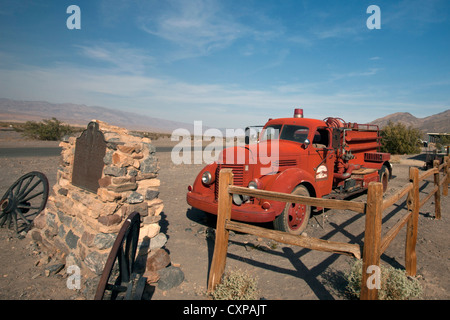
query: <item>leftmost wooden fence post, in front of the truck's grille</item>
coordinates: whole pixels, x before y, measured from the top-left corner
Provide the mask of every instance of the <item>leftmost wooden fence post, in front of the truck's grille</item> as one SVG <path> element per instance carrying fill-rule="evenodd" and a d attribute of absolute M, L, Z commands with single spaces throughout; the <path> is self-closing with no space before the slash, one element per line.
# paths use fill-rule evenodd
<path fill-rule="evenodd" d="M 231 217 L 232 196 L 228 193 L 228 186 L 233 184 L 233 171 L 222 169 L 219 174 L 219 207 L 217 210 L 216 241 L 208 279 L 208 293 L 214 291 L 220 283 L 228 250 L 229 231 L 225 228 L 226 220 Z"/>

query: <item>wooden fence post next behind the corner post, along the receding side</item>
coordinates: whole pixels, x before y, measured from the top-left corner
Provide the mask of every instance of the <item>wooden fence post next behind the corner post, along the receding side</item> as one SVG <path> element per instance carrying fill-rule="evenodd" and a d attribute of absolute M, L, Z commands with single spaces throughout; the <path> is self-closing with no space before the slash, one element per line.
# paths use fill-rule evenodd
<path fill-rule="evenodd" d="M 409 276 L 415 276 L 417 272 L 417 256 L 416 256 L 416 242 L 417 242 L 417 226 L 419 224 L 419 169 L 410 168 L 409 178 L 413 183 L 413 188 L 408 194 L 408 204 L 412 214 L 406 226 L 406 245 L 405 245 L 405 267 L 406 273 Z"/>

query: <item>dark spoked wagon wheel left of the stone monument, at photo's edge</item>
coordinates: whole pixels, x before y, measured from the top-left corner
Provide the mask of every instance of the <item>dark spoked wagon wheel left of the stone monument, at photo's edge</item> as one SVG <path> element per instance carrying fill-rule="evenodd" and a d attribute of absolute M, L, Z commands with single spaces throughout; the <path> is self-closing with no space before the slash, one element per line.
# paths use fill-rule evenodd
<path fill-rule="evenodd" d="M 44 209 L 48 199 L 47 177 L 37 171 L 29 172 L 20 177 L 9 187 L 0 200 L 0 227 L 14 224 L 19 234 L 18 220 L 22 220 L 28 231 L 33 219 Z"/>

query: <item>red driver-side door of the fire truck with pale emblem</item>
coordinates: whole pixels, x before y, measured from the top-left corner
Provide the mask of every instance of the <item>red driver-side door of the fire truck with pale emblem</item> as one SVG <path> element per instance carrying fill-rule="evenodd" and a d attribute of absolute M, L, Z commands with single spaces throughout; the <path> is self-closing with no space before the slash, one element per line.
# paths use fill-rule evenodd
<path fill-rule="evenodd" d="M 331 192 L 335 153 L 331 147 L 331 132 L 328 128 L 317 128 L 308 147 L 309 165 L 318 186 L 319 196 Z"/>

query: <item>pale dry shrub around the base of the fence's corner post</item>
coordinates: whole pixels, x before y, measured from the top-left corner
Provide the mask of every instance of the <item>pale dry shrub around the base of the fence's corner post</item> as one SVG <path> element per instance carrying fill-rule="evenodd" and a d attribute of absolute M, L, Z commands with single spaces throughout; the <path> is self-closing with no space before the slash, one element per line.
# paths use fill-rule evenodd
<path fill-rule="evenodd" d="M 379 300 L 408 300 L 419 297 L 422 287 L 419 281 L 408 277 L 405 270 L 381 265 L 381 288 L 378 290 Z M 347 291 L 352 298 L 359 299 L 362 279 L 362 260 L 356 260 L 346 275 Z"/>

